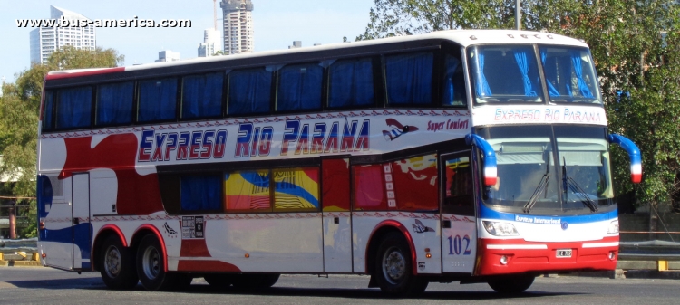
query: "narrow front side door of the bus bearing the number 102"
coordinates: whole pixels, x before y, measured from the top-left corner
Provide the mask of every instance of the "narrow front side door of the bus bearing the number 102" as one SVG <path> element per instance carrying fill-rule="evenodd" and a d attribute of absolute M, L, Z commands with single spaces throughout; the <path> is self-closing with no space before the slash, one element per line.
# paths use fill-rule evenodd
<path fill-rule="evenodd" d="M 471 273 L 477 250 L 471 151 L 440 157 L 442 272 Z"/>

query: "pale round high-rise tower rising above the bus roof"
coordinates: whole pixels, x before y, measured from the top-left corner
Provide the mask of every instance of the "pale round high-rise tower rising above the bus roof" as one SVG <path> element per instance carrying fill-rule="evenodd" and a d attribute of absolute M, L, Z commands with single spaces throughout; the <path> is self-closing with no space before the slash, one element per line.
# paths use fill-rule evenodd
<path fill-rule="evenodd" d="M 219 7 L 224 13 L 224 53 L 238 54 L 255 51 L 253 2 L 222 0 Z"/>

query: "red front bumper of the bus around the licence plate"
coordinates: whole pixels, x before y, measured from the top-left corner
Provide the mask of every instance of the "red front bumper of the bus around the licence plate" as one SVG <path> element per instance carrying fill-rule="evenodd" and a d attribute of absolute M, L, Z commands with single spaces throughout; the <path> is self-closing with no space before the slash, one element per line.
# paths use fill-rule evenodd
<path fill-rule="evenodd" d="M 525 272 L 607 271 L 617 268 L 618 236 L 597 241 L 533 243 L 523 239 L 481 239 L 477 275 Z M 571 250 L 571 257 L 558 252 Z"/>

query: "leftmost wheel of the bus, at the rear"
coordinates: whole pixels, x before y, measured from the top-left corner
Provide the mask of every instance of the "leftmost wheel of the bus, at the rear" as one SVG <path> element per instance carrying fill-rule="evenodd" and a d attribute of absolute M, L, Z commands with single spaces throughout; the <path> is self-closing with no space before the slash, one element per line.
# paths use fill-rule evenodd
<path fill-rule="evenodd" d="M 109 236 L 100 249 L 99 271 L 106 287 L 113 290 L 130 290 L 137 286 L 134 252 L 124 247 L 117 236 Z"/>

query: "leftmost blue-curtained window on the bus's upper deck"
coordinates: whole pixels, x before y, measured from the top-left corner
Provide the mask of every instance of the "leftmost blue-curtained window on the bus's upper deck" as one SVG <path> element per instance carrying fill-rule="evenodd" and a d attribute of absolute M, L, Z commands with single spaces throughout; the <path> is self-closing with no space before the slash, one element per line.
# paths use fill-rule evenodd
<path fill-rule="evenodd" d="M 90 126 L 92 87 L 64 89 L 57 100 L 57 129 L 74 129 Z"/>

